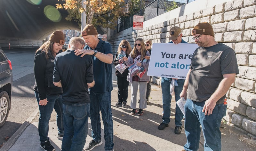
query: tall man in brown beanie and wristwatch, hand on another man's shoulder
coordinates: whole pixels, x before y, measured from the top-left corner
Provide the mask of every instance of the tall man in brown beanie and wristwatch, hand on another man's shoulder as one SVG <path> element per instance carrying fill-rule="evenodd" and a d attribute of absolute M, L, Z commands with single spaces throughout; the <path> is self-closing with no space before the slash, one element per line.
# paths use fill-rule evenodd
<path fill-rule="evenodd" d="M 90 114 L 93 140 L 86 146 L 86 150 L 102 144 L 100 134 L 100 111 L 104 125 L 105 150 L 113 150 L 113 120 L 111 111 L 112 61 L 113 51 L 109 42 L 98 39 L 96 28 L 88 24 L 82 31 L 85 40 L 85 49 L 76 50 L 76 55 L 83 57 L 92 55 L 93 75 L 95 85 L 90 91 Z M 87 135 L 87 134 L 85 134 Z"/>

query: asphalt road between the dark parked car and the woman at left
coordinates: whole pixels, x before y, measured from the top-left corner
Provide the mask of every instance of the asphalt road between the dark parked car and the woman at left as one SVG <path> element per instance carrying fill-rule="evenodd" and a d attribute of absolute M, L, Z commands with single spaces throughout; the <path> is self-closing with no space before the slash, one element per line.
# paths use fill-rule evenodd
<path fill-rule="evenodd" d="M 12 63 L 13 86 L 11 110 L 6 123 L 0 128 L 0 145 L 12 137 L 38 107 L 32 90 L 35 83 L 33 63 L 36 49 L 4 50 Z"/>

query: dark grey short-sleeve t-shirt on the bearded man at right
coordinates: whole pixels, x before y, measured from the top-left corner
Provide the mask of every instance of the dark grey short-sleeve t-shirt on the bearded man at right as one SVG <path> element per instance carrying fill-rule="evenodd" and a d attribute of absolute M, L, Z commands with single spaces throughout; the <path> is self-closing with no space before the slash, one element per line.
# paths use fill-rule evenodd
<path fill-rule="evenodd" d="M 198 47 L 190 65 L 188 98 L 202 102 L 211 97 L 223 79 L 224 74 L 238 74 L 234 50 L 222 43 L 211 47 Z M 217 103 L 223 103 L 226 95 Z"/>

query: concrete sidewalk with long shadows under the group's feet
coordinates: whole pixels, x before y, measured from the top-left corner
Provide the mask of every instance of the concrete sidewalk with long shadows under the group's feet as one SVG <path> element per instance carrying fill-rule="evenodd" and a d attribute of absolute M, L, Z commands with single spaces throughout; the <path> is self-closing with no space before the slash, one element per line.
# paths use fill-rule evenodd
<path fill-rule="evenodd" d="M 114 68 L 113 68 L 114 70 Z M 177 135 L 174 133 L 174 114 L 175 114 L 175 99 L 172 97 L 171 103 L 171 122 L 169 127 L 164 130 L 158 130 L 158 125 L 162 122 L 162 91 L 161 87 L 156 84 L 151 84 L 151 96 L 150 104 L 144 110 L 142 116 L 131 115 L 130 98 L 131 91 L 129 90 L 127 107 L 116 107 L 117 102 L 117 82 L 116 76 L 113 74 L 113 87 L 114 90 L 111 92 L 111 106 L 113 114 L 114 124 L 114 150 L 115 151 L 126 151 L 126 150 L 142 150 L 142 151 L 180 151 L 183 149 L 183 145 L 186 143 L 186 136 L 184 133 L 184 127 L 182 133 Z M 139 105 L 137 104 L 137 107 Z M 25 127 L 17 131 L 12 138 L 8 140 L 0 150 L 5 151 L 42 151 L 40 148 L 39 135 L 38 135 L 38 111 L 35 111 L 35 115 L 31 115 L 33 119 L 28 127 Z M 31 121 L 28 119 L 27 121 Z M 26 124 L 27 122 L 24 122 Z M 184 121 L 182 121 L 184 126 Z M 22 127 L 22 126 L 21 126 Z M 91 137 L 91 120 L 89 119 L 88 135 L 86 138 L 85 146 L 92 140 Z M 221 125 L 222 132 L 222 150 L 225 151 L 253 151 L 255 148 L 250 147 L 245 141 L 246 136 L 243 133 L 228 126 L 227 124 Z M 52 118 L 49 123 L 49 137 L 52 145 L 56 151 L 61 149 L 62 141 L 57 138 L 57 124 L 56 124 L 56 113 L 53 111 Z M 103 144 L 95 147 L 94 151 L 104 150 L 104 130 L 103 123 L 101 121 L 101 136 Z M 244 141 L 241 141 L 244 140 Z M 204 137 L 201 133 L 199 151 L 204 150 Z"/>

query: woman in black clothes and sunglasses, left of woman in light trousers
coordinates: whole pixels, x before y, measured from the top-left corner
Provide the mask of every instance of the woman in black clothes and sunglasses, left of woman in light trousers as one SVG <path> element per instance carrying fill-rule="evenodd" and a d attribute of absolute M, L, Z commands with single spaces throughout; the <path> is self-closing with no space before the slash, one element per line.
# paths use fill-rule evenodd
<path fill-rule="evenodd" d="M 122 53 L 125 53 L 126 58 L 128 58 L 129 54 L 131 53 L 132 48 L 131 45 L 127 40 L 122 40 L 118 46 L 117 53 L 116 53 L 116 60 L 114 60 L 114 66 L 124 63 L 123 58 L 118 59 L 117 56 L 119 56 Z M 117 76 L 117 87 L 118 87 L 118 92 L 117 92 L 117 97 L 118 97 L 118 102 L 116 103 L 117 107 L 126 107 L 127 103 L 127 98 L 128 98 L 128 86 L 129 86 L 129 81 L 127 81 L 127 75 L 128 75 L 128 68 L 124 70 L 124 72 L 121 74 L 117 69 L 116 69 L 116 76 Z"/>

